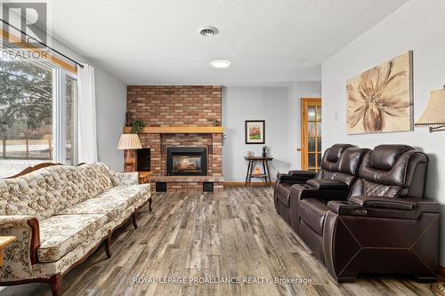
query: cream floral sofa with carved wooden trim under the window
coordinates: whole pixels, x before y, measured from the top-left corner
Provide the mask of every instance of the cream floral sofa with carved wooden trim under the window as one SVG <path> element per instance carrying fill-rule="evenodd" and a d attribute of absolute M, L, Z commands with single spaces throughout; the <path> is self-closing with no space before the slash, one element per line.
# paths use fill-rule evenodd
<path fill-rule="evenodd" d="M 105 164 L 51 165 L 0 179 L 0 236 L 17 236 L 5 251 L 0 285 L 43 282 L 53 295 L 61 277 L 150 202 L 150 184 L 137 172 Z"/>

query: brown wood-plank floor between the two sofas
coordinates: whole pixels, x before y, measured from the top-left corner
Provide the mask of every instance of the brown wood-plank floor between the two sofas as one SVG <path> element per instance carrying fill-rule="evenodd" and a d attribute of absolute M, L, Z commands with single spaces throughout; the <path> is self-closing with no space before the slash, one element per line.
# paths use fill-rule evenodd
<path fill-rule="evenodd" d="M 405 277 L 360 277 L 336 284 L 275 212 L 271 188 L 222 193 L 163 193 L 153 213 L 138 214 L 104 247 L 63 278 L 64 295 L 430 295 Z M 312 284 L 134 284 L 134 278 L 310 278 Z M 50 295 L 45 284 L 7 287 L 1 295 Z"/>

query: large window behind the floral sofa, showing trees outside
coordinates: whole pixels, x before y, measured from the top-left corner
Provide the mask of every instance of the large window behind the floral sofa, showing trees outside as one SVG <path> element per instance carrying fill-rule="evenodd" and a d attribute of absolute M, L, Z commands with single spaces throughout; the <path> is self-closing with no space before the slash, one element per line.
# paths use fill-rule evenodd
<path fill-rule="evenodd" d="M 0 178 L 43 162 L 77 164 L 76 76 L 2 54 L 0 143 Z"/>

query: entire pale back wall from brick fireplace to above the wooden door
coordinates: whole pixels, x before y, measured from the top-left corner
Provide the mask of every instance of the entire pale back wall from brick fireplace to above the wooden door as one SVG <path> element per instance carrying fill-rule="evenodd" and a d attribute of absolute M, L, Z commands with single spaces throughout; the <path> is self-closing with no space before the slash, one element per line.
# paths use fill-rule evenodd
<path fill-rule="evenodd" d="M 226 181 L 243 181 L 247 151 L 260 156 L 263 145 L 245 144 L 244 121 L 265 120 L 265 145 L 275 159 L 271 178 L 277 172 L 300 169 L 302 98 L 320 98 L 320 81 L 294 82 L 287 87 L 225 87 L 223 88 L 223 126 L 227 139 L 223 142 L 223 174 Z M 261 167 L 260 167 L 261 168 Z M 261 180 L 257 180 L 261 181 Z"/>

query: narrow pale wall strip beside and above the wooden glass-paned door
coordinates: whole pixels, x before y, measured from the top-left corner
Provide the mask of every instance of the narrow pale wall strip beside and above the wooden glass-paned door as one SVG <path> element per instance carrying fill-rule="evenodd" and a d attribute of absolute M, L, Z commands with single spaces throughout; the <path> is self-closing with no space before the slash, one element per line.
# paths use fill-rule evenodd
<path fill-rule="evenodd" d="M 320 81 L 297 81 L 287 88 L 287 157 L 290 168 L 301 169 L 301 99 L 320 98 Z"/>

